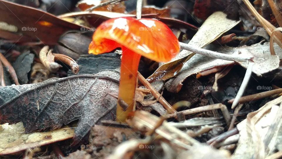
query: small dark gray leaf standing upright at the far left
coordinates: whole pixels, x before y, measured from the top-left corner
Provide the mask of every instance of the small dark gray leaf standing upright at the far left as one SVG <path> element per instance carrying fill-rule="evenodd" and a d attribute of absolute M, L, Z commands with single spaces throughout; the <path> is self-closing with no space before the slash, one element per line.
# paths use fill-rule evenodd
<path fill-rule="evenodd" d="M 30 72 L 33 58 L 34 58 L 34 54 L 30 54 L 29 51 L 24 52 L 16 59 L 16 61 L 13 64 L 19 83 L 21 85 L 27 84 L 28 82 L 27 74 L 28 72 Z"/>

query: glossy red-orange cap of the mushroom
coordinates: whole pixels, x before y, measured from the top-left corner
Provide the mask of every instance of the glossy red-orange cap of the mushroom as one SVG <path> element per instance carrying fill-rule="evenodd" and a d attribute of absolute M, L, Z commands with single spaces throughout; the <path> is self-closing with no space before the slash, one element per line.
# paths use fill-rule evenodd
<path fill-rule="evenodd" d="M 90 54 L 103 54 L 123 46 L 157 62 L 170 61 L 180 50 L 177 37 L 157 19 L 109 19 L 96 28 L 92 40 Z"/>

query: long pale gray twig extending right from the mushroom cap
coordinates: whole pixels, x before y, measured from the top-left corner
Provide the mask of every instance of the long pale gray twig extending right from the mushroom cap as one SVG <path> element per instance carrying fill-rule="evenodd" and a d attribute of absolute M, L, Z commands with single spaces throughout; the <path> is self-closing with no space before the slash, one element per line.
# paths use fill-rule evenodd
<path fill-rule="evenodd" d="M 252 56 L 244 56 L 244 55 L 234 55 L 234 54 L 222 54 L 219 52 L 214 52 L 198 47 L 193 47 L 192 45 L 185 44 L 179 42 L 181 49 L 188 50 L 197 54 L 202 54 L 208 57 L 216 58 L 216 59 L 223 59 L 228 61 L 237 61 L 237 62 L 246 62 L 246 61 L 253 61 L 254 57 Z"/>

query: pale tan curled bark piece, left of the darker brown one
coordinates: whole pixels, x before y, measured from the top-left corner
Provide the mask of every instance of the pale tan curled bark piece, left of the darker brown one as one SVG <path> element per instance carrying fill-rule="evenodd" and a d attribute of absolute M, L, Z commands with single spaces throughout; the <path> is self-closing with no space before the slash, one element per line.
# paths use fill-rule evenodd
<path fill-rule="evenodd" d="M 49 46 L 45 46 L 41 49 L 39 57 L 42 64 L 51 72 L 57 72 L 58 69 L 62 67 L 55 62 L 54 55 L 51 50 L 49 51 Z"/>

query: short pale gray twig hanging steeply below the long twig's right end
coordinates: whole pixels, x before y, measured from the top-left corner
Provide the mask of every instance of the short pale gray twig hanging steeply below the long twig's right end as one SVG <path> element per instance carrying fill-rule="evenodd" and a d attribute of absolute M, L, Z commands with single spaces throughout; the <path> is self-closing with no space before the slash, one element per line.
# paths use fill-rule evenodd
<path fill-rule="evenodd" d="M 246 87 L 247 87 L 247 84 L 250 80 L 250 77 L 251 77 L 251 74 L 252 74 L 252 69 L 253 69 L 253 66 L 254 66 L 254 62 L 249 62 L 248 64 L 248 67 L 247 67 L 247 70 L 246 70 L 246 74 L 245 74 L 245 77 L 243 79 L 243 82 L 239 88 L 239 91 L 234 99 L 234 102 L 232 103 L 232 106 L 231 106 L 231 109 L 234 109 L 238 103 L 239 103 L 239 99 L 242 97 Z"/>

